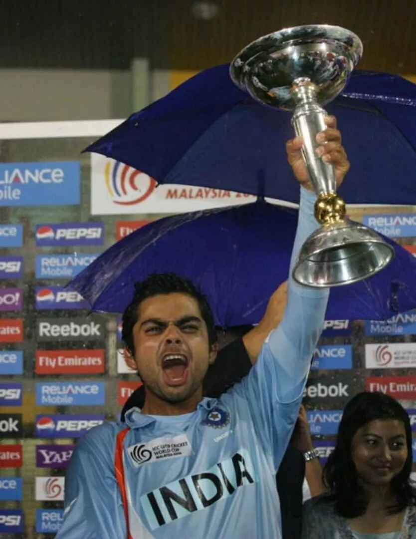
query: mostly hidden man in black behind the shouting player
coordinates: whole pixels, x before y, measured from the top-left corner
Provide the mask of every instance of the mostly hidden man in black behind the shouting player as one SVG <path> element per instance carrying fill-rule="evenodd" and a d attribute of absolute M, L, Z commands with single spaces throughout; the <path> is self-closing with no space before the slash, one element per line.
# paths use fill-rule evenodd
<path fill-rule="evenodd" d="M 287 281 L 272 294 L 258 326 L 230 328 L 220 334 L 222 347 L 204 378 L 204 395 L 219 398 L 247 376 L 256 362 L 268 334 L 283 319 L 287 303 Z M 123 406 L 121 420 L 133 407 L 142 409 L 144 388 L 136 389 Z M 295 430 L 276 474 L 281 509 L 282 539 L 300 539 L 302 504 L 323 492 L 322 468 L 314 451 L 306 411 L 303 406 Z"/>

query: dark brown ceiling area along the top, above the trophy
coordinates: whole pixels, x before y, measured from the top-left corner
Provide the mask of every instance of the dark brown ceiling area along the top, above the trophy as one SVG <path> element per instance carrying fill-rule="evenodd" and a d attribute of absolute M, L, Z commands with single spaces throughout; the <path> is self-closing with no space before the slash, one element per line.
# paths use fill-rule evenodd
<path fill-rule="evenodd" d="M 360 68 L 416 74 L 416 1 L 2 0 L 0 67 L 202 70 L 282 27 L 344 26 L 364 43 Z"/>

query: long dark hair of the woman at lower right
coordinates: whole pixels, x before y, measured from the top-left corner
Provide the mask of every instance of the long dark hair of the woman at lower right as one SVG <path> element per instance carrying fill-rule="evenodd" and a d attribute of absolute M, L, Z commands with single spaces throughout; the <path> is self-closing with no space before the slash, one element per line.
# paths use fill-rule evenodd
<path fill-rule="evenodd" d="M 409 416 L 397 400 L 384 393 L 359 393 L 345 406 L 339 423 L 337 443 L 323 469 L 324 485 L 330 494 L 323 501 L 335 502 L 336 512 L 353 518 L 365 514 L 368 498 L 358 481 L 358 474 L 351 456 L 351 442 L 358 429 L 377 419 L 402 421 L 406 432 L 407 459 L 401 472 L 392 480 L 396 499 L 390 513 L 399 513 L 407 506 L 416 505 L 416 493 L 410 483 L 412 471 L 412 428 Z"/>

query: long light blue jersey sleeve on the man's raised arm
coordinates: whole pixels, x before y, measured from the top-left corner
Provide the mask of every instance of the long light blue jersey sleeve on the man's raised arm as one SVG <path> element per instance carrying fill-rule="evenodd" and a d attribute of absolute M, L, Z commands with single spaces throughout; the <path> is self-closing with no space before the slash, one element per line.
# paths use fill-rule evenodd
<path fill-rule="evenodd" d="M 288 303 L 282 322 L 268 336 L 259 359 L 228 398 L 244 397 L 266 452 L 278 469 L 299 413 L 311 358 L 321 335 L 329 291 L 297 284 L 292 268 L 301 245 L 318 227 L 313 192 L 301 189 L 299 223 L 290 263 Z"/>

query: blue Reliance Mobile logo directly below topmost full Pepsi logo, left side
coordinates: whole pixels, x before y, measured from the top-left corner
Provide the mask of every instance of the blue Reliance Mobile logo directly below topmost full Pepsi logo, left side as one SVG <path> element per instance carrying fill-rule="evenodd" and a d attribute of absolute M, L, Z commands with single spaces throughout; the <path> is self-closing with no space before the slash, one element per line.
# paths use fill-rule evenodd
<path fill-rule="evenodd" d="M 38 254 L 37 279 L 67 279 L 75 277 L 93 262 L 99 254 Z"/>

